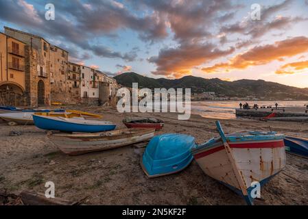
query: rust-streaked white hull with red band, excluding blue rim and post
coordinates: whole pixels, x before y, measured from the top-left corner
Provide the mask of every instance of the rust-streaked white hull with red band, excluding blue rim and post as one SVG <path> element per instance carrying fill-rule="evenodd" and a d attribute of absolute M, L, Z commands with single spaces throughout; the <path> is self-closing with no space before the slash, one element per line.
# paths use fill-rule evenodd
<path fill-rule="evenodd" d="M 246 190 L 251 188 L 252 183 L 270 179 L 285 167 L 283 140 L 229 142 L 229 145 Z M 255 147 L 246 147 L 247 145 Z M 210 149 L 194 151 L 193 155 L 206 175 L 234 190 L 241 190 L 222 142 Z"/>

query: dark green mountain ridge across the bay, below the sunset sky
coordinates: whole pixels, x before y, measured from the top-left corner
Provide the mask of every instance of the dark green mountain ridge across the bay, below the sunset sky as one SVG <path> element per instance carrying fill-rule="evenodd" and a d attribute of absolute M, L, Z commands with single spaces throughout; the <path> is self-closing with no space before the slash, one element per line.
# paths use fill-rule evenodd
<path fill-rule="evenodd" d="M 223 81 L 222 79 L 204 79 L 191 75 L 180 79 L 154 79 L 137 73 L 123 73 L 114 77 L 122 86 L 132 87 L 133 82 L 139 83 L 139 88 L 191 88 L 191 93 L 215 92 L 217 96 L 229 98 L 257 98 L 279 100 L 308 100 L 308 88 L 296 88 L 281 83 L 264 81 L 262 79 L 239 79 Z"/>

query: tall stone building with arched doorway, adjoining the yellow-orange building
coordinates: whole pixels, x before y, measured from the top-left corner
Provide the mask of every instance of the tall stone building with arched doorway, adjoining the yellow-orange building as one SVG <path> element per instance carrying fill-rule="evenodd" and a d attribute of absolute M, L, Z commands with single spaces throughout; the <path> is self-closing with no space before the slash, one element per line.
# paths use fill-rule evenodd
<path fill-rule="evenodd" d="M 27 105 L 50 105 L 49 42 L 40 36 L 10 27 L 4 27 L 4 30 L 8 36 L 21 40 L 29 46 L 28 52 L 25 54 L 25 66 L 29 66 L 26 69 L 26 74 L 29 74 L 30 79 L 25 79 L 25 83 L 27 84 L 27 81 L 32 81 L 32 83 L 27 85 L 30 87 L 27 90 L 27 95 L 30 96 L 27 99 Z"/>

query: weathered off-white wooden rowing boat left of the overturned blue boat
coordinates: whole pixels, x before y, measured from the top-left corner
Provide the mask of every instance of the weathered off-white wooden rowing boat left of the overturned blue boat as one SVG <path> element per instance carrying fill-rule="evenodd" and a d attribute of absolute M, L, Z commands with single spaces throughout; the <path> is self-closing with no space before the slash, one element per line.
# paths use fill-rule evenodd
<path fill-rule="evenodd" d="M 80 155 L 143 142 L 152 138 L 154 132 L 154 129 L 119 129 L 99 133 L 52 134 L 49 139 L 63 153 Z"/>

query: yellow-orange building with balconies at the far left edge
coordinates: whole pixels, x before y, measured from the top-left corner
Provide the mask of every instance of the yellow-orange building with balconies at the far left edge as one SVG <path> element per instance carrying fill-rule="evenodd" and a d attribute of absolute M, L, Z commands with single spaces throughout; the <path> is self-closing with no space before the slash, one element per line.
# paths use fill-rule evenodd
<path fill-rule="evenodd" d="M 0 33 L 0 105 L 26 105 L 25 43 Z"/>

